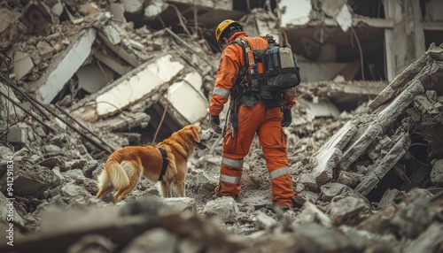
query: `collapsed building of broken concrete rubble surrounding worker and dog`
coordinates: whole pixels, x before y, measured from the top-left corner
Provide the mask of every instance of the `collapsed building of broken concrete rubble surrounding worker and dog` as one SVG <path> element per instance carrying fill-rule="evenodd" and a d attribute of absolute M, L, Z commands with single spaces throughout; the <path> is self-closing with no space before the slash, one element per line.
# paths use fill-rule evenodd
<path fill-rule="evenodd" d="M 432 14 L 439 4 L 423 3 L 428 11 L 417 20 L 416 4 L 385 1 L 392 16 L 379 20 L 360 15 L 380 12 L 381 2 L 312 1 L 307 24 L 282 28 L 276 1 L 200 2 L 3 3 L 0 226 L 9 226 L 11 156 L 15 242 L 9 248 L 1 241 L 0 250 L 442 250 L 443 48 L 438 23 L 426 21 L 439 21 Z M 245 159 L 238 202 L 213 200 L 220 138 L 190 160 L 188 197 L 160 200 L 143 180 L 122 204 L 97 200 L 97 174 L 113 149 L 159 142 L 187 124 L 208 127 L 219 57 L 213 31 L 222 19 L 287 40 L 299 58 L 304 81 L 286 129 L 298 207 L 267 208 L 270 182 L 258 143 Z M 404 29 L 411 36 L 411 24 L 424 37 L 413 29 L 414 42 L 376 57 L 397 44 L 389 40 L 404 40 Z M 321 41 L 310 37 L 322 29 Z M 362 54 L 344 39 L 353 29 Z M 363 43 L 362 35 L 374 41 Z M 317 51 L 308 56 L 299 42 L 309 40 Z"/>

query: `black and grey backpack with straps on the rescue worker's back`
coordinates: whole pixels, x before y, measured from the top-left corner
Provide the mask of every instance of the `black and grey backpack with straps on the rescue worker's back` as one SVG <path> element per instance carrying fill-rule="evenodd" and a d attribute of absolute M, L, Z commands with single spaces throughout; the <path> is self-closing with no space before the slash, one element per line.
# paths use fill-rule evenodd
<path fill-rule="evenodd" d="M 280 93 L 296 87 L 300 83 L 299 65 L 291 49 L 277 43 L 272 35 L 266 37 L 268 48 L 264 50 L 251 50 L 248 42 L 241 38 L 232 42 L 243 47 L 245 56 L 245 65 L 240 69 L 237 80 L 245 80 L 250 88 L 257 91 L 263 89 Z"/>

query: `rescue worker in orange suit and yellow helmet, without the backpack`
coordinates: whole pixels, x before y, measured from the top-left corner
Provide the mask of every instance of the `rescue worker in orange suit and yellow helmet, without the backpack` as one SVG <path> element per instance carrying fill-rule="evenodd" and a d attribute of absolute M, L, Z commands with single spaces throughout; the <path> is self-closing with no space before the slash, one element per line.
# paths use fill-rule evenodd
<path fill-rule="evenodd" d="M 284 211 L 289 210 L 293 204 L 294 192 L 283 126 L 291 124 L 295 89 L 272 94 L 272 99 L 264 99 L 257 91 L 243 92 L 243 95 L 238 97 L 238 92 L 235 91 L 240 85 L 241 77 L 238 77 L 238 73 L 245 65 L 245 52 L 235 41 L 242 39 L 250 45 L 251 50 L 262 50 L 268 47 L 267 37 L 250 37 L 243 32 L 237 21 L 226 19 L 215 29 L 215 39 L 222 52 L 209 104 L 210 124 L 214 131 L 221 134 L 223 130 L 219 114 L 224 103 L 228 101 L 230 117 L 228 127 L 223 130 L 220 181 L 214 196 L 231 196 L 237 199 L 241 189 L 244 157 L 249 152 L 254 135 L 257 134 L 271 179 L 273 206 L 278 206 Z M 242 85 L 248 87 L 247 83 Z M 233 104 L 235 102 L 237 104 Z M 236 115 L 237 119 L 233 119 L 232 116 Z"/>

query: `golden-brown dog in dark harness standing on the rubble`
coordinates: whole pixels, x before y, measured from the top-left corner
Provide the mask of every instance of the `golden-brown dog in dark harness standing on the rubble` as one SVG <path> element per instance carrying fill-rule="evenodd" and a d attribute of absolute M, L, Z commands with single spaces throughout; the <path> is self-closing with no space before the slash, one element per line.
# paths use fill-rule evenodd
<path fill-rule="evenodd" d="M 108 157 L 105 169 L 98 176 L 97 197 L 103 199 L 115 189 L 117 192 L 113 196 L 114 201 L 120 202 L 136 188 L 142 174 L 153 182 L 160 181 L 162 197 L 185 196 L 187 160 L 192 155 L 194 147 L 209 149 L 206 142 L 213 135 L 212 131 L 190 125 L 184 126 L 163 142 L 159 142 L 156 147 L 128 146 L 115 150 Z M 166 151 L 165 157 L 160 149 Z"/>

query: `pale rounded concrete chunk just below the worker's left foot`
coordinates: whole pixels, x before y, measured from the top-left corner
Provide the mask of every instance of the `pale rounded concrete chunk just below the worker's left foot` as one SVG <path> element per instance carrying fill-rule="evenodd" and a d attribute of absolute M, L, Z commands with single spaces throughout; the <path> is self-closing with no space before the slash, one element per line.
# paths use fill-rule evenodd
<path fill-rule="evenodd" d="M 206 216 L 219 219 L 222 222 L 234 222 L 238 215 L 238 206 L 231 197 L 220 197 L 206 203 L 203 210 Z"/>

